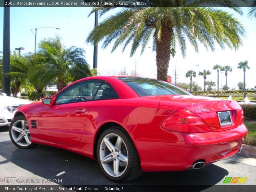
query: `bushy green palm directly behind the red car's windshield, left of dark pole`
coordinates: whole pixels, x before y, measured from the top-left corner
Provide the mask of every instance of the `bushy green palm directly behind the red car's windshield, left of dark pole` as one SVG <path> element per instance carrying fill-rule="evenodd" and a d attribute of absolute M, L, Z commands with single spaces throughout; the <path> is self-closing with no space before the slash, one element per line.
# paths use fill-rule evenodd
<path fill-rule="evenodd" d="M 60 37 L 44 39 L 36 54 L 39 64 L 29 70 L 30 80 L 36 84 L 57 83 L 60 91 L 68 82 L 91 76 L 82 48 L 65 48 Z"/>

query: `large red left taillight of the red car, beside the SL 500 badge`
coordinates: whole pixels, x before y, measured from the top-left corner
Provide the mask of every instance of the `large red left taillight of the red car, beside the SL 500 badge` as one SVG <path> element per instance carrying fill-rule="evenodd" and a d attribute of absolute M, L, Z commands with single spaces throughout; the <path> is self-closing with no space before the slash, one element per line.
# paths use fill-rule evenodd
<path fill-rule="evenodd" d="M 186 109 L 179 109 L 168 116 L 162 123 L 164 129 L 176 132 L 210 132 L 211 129 L 196 114 Z"/>

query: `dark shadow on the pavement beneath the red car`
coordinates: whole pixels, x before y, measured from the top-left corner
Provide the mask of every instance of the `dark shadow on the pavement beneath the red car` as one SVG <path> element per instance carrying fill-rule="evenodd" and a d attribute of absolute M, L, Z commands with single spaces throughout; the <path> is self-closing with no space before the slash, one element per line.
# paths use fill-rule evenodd
<path fill-rule="evenodd" d="M 33 149 L 20 149 L 8 140 L 0 142 L 0 155 L 8 160 L 2 163 L 11 162 L 45 179 L 61 179 L 62 182 L 58 183 L 60 185 L 120 185 L 108 180 L 96 161 L 62 149 L 43 145 Z M 8 173 L 8 170 L 3 171 Z M 65 173 L 57 176 L 61 172 Z M 210 164 L 199 170 L 145 172 L 140 178 L 124 184 L 209 186 L 220 182 L 226 175 L 227 170 Z M 20 177 L 27 178 L 24 173 Z"/>

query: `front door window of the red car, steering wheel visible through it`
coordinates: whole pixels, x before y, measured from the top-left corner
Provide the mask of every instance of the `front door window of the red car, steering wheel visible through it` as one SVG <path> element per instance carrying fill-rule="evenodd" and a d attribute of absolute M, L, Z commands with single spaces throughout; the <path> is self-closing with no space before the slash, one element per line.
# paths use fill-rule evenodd
<path fill-rule="evenodd" d="M 94 88 L 99 87 L 100 81 L 84 81 L 73 85 L 67 90 L 61 92 L 55 104 L 73 103 L 92 100 L 96 91 Z"/>

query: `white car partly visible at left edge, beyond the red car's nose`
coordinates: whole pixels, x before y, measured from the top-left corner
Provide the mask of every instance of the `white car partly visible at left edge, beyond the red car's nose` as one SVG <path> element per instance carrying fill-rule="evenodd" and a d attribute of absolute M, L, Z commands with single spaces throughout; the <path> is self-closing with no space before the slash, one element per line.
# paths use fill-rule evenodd
<path fill-rule="evenodd" d="M 9 125 L 12 121 L 13 111 L 22 106 L 31 103 L 24 99 L 5 96 L 0 92 L 0 126 Z"/>

